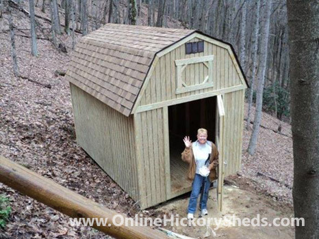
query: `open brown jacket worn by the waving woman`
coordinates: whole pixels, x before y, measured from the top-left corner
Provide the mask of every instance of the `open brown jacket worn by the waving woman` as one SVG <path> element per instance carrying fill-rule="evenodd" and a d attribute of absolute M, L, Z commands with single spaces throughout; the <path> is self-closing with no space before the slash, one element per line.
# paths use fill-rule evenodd
<path fill-rule="evenodd" d="M 196 163 L 195 163 L 192 146 L 185 148 L 185 150 L 181 153 L 181 159 L 190 165 L 190 167 L 188 168 L 188 179 L 194 180 L 195 172 L 196 172 Z M 209 179 L 211 180 L 211 182 L 212 180 L 216 180 L 217 178 L 217 173 L 216 173 L 217 166 L 218 166 L 218 150 L 216 145 L 212 143 L 212 154 L 210 154 L 209 166 L 208 166 L 208 168 L 210 169 Z"/>

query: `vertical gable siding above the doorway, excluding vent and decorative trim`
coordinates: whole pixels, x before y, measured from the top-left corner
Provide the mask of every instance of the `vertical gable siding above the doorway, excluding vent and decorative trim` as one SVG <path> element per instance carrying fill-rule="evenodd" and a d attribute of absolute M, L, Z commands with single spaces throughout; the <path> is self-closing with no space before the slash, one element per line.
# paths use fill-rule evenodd
<path fill-rule="evenodd" d="M 198 42 L 198 38 L 193 38 L 188 42 Z M 183 94 L 175 94 L 176 83 L 176 59 L 188 59 L 192 57 L 203 57 L 205 55 L 214 55 L 213 61 L 213 87 L 194 90 Z M 202 64 L 189 64 L 182 73 L 182 79 L 187 85 L 202 83 L 207 76 L 208 70 Z M 186 55 L 185 44 L 175 48 L 166 55 L 160 57 L 155 66 L 151 79 L 146 85 L 144 96 L 140 100 L 139 106 L 174 100 L 185 96 L 192 96 L 205 92 L 211 92 L 217 89 L 223 89 L 235 85 L 242 85 L 238 72 L 233 65 L 233 61 L 227 49 L 216 46 L 210 42 L 204 41 L 204 52 Z"/>

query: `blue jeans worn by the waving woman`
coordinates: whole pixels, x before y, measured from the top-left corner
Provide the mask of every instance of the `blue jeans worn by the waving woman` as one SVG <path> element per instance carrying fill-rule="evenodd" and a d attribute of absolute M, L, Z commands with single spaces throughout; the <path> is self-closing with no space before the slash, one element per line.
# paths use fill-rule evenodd
<path fill-rule="evenodd" d="M 207 199 L 209 191 L 210 181 L 209 177 L 203 177 L 199 174 L 195 174 L 194 181 L 192 182 L 192 193 L 190 194 L 190 203 L 188 204 L 188 213 L 196 212 L 197 198 L 201 193 L 201 200 L 199 201 L 199 208 L 201 210 L 207 209 Z"/>

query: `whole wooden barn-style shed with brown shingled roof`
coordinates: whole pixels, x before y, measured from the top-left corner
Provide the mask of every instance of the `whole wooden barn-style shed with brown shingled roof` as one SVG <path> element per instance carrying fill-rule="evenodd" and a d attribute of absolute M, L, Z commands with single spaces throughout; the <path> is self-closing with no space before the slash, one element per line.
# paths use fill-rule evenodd
<path fill-rule="evenodd" d="M 183 137 L 220 151 L 218 187 L 240 169 L 246 79 L 230 44 L 199 31 L 107 24 L 77 43 L 77 142 L 141 208 L 191 191 Z"/>

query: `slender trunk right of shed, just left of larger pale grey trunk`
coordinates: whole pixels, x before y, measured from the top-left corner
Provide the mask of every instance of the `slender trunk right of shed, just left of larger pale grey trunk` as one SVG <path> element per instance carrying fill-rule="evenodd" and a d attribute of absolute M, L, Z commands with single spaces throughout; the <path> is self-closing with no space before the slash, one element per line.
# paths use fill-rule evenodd
<path fill-rule="evenodd" d="M 257 51 L 258 51 L 258 33 L 259 33 L 259 12 L 260 12 L 260 0 L 257 0 L 257 10 L 256 10 L 256 19 L 255 19 L 255 32 L 253 35 L 253 72 L 251 74 L 251 87 L 249 88 L 248 93 L 248 113 L 247 113 L 247 122 L 246 128 L 249 129 L 251 124 L 251 105 L 253 104 L 253 92 L 255 89 L 255 79 L 256 79 L 256 68 L 257 68 Z"/>

